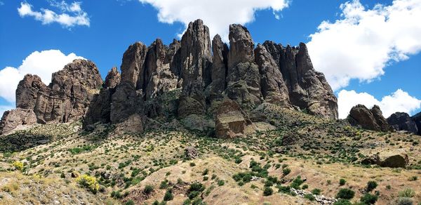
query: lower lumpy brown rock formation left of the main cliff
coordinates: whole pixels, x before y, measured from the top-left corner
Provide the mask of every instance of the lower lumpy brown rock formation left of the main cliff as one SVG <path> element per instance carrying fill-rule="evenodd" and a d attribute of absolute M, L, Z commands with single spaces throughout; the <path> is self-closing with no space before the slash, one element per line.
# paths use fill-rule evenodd
<path fill-rule="evenodd" d="M 6 133 L 20 124 L 79 120 L 86 114 L 93 95 L 101 86 L 100 72 L 88 60 L 74 60 L 53 73 L 48 86 L 36 75 L 27 74 L 16 89 L 17 109 L 4 114 L 0 133 Z M 36 120 L 33 116 L 36 116 Z"/>

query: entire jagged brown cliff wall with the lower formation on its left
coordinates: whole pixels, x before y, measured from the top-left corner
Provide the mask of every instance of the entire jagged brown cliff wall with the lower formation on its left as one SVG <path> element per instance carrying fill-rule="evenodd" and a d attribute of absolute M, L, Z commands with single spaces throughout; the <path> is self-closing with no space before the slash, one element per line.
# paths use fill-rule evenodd
<path fill-rule="evenodd" d="M 243 115 L 269 102 L 338 118 L 337 99 L 323 74 L 314 70 L 305 44 L 283 47 L 266 41 L 255 46 L 246 27 L 230 25 L 228 46 L 219 35 L 210 41 L 201 20 L 191 22 L 181 41 L 169 46 L 160 39 L 150 46 L 129 46 L 121 75 L 113 68 L 105 84 L 95 65 L 83 60 L 54 74 L 49 86 L 27 76 L 18 86 L 17 107 L 32 110 L 39 123 L 84 117 L 88 128 L 98 122 L 139 124 L 145 117 L 215 116 L 228 98 Z"/>

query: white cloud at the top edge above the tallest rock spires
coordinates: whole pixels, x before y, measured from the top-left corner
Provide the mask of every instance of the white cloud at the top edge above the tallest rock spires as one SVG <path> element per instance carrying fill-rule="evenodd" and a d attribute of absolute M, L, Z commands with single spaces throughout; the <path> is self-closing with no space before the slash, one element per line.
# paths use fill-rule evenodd
<path fill-rule="evenodd" d="M 289 0 L 139 0 L 158 10 L 160 22 L 182 22 L 185 27 L 198 18 L 209 27 L 210 37 L 220 34 L 228 39 L 228 27 L 232 23 L 246 24 L 254 20 L 255 11 L 272 9 L 275 18 L 288 7 Z"/>

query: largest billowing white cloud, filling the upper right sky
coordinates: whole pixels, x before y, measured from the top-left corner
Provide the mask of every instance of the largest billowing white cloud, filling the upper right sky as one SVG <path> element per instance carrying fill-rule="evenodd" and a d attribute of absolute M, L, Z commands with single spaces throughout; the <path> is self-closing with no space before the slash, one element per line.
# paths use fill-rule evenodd
<path fill-rule="evenodd" d="M 394 0 L 373 9 L 354 0 L 340 8 L 341 19 L 321 22 L 307 44 L 314 67 L 333 90 L 350 79 L 377 79 L 389 63 L 421 51 L 421 0 Z"/>

